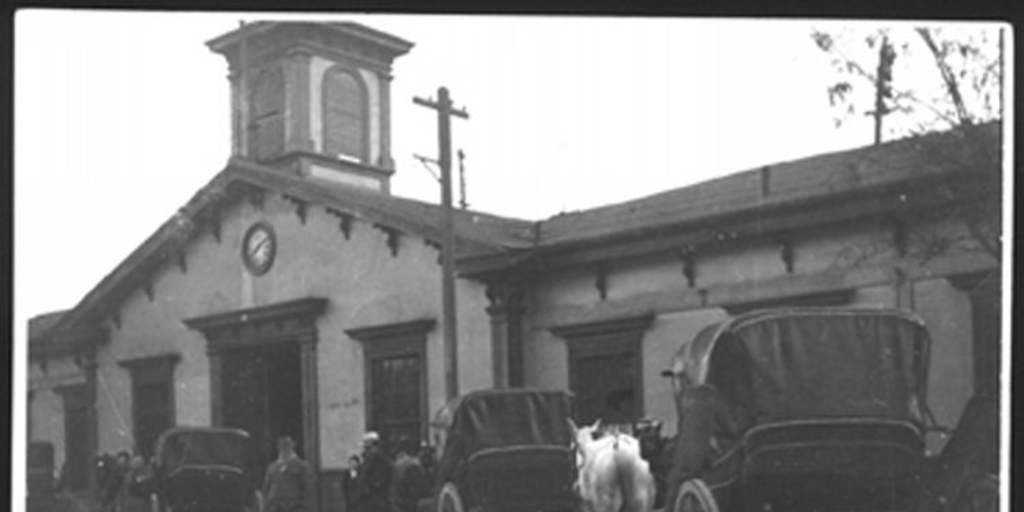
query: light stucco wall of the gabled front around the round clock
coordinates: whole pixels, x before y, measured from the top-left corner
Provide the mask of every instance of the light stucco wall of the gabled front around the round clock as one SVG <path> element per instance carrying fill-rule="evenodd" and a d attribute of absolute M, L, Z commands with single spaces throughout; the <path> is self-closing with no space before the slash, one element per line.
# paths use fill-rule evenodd
<path fill-rule="evenodd" d="M 253 276 L 242 264 L 245 230 L 271 224 L 278 253 L 266 274 Z M 128 450 L 132 443 L 131 381 L 120 361 L 177 353 L 175 413 L 178 424 L 211 421 L 206 340 L 182 319 L 305 297 L 328 298 L 316 327 L 319 444 L 324 468 L 340 468 L 357 449 L 366 428 L 362 346 L 345 330 L 434 318 L 427 335 L 426 373 L 430 414 L 443 404 L 440 327 L 440 265 L 437 250 L 423 239 L 401 234 L 391 255 L 386 234 L 354 220 L 345 240 L 338 219 L 311 205 L 303 224 L 295 206 L 269 194 L 262 210 L 241 202 L 222 212 L 221 240 L 204 232 L 189 243 L 186 271 L 176 262 L 154 280 L 151 301 L 138 290 L 124 302 L 121 327 L 97 355 L 99 449 Z M 459 281 L 460 390 L 492 385 L 490 326 L 483 286 Z"/>

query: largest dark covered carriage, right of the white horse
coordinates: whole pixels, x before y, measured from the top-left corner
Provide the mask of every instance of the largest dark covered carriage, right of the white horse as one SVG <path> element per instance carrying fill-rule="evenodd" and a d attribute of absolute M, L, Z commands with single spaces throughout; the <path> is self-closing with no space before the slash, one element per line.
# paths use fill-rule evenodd
<path fill-rule="evenodd" d="M 909 510 L 928 350 L 924 324 L 896 310 L 766 310 L 705 329 L 668 372 L 673 510 Z"/>

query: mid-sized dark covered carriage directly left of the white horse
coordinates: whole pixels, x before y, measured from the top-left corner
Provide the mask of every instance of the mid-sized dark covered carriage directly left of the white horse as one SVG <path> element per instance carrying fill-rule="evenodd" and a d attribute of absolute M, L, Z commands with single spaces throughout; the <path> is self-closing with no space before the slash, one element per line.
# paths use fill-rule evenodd
<path fill-rule="evenodd" d="M 442 408 L 431 427 L 442 440 L 433 498 L 439 512 L 556 512 L 578 504 L 569 395 L 481 390 Z"/>

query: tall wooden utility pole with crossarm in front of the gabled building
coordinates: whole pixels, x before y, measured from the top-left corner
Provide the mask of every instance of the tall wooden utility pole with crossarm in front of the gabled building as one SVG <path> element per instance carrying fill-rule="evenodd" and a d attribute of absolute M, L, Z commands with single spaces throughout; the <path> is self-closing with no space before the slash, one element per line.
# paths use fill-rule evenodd
<path fill-rule="evenodd" d="M 455 226 L 452 213 L 452 116 L 469 119 L 464 110 L 452 106 L 445 87 L 437 89 L 437 101 L 414 97 L 416 104 L 437 111 L 437 162 L 441 168 L 441 307 L 444 315 L 444 393 L 459 394 L 459 351 L 455 314 Z"/>

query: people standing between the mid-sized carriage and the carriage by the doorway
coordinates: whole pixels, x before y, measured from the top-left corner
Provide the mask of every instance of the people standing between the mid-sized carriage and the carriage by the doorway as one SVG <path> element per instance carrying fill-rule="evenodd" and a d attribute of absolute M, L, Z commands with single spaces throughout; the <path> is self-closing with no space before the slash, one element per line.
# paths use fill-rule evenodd
<path fill-rule="evenodd" d="M 349 459 L 342 477 L 345 512 L 416 512 L 417 502 L 430 493 L 429 461 L 421 460 L 418 449 L 403 437 L 389 456 L 380 435 L 367 432 L 361 455 Z M 279 438 L 278 459 L 263 479 L 262 512 L 313 510 L 313 478 L 312 466 L 296 455 L 292 438 Z"/>

